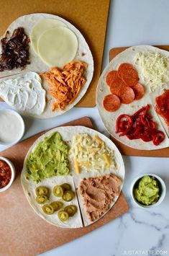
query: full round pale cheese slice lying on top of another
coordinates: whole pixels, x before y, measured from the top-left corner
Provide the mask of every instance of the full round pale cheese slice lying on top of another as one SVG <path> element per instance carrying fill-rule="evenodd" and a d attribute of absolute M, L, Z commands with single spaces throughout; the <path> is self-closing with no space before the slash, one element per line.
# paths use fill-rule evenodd
<path fill-rule="evenodd" d="M 67 27 L 47 30 L 38 41 L 38 53 L 49 66 L 63 67 L 73 61 L 78 50 L 78 39 Z"/>

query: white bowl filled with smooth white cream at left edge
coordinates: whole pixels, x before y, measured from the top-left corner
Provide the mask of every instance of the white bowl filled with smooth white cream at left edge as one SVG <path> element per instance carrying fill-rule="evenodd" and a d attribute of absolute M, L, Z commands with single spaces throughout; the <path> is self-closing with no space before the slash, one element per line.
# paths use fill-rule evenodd
<path fill-rule="evenodd" d="M 0 144 L 11 146 L 24 135 L 24 120 L 14 110 L 0 110 Z"/>

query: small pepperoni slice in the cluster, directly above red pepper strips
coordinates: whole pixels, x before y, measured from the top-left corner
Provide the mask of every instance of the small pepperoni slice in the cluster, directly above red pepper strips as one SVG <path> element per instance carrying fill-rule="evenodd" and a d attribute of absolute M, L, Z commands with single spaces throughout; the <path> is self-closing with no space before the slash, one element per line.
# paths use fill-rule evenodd
<path fill-rule="evenodd" d="M 122 87 L 122 89 L 119 90 L 119 98 L 124 104 L 129 104 L 133 102 L 134 97 L 134 91 L 130 87 Z"/>

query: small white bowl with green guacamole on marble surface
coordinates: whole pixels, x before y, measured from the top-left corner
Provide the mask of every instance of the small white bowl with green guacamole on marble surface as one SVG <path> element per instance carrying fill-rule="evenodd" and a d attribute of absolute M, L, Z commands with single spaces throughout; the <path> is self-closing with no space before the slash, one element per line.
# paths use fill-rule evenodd
<path fill-rule="evenodd" d="M 131 185 L 131 195 L 137 206 L 150 208 L 159 206 L 165 198 L 165 182 L 153 174 L 140 175 Z"/>

